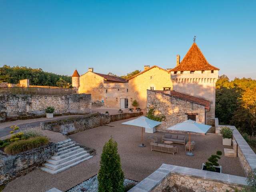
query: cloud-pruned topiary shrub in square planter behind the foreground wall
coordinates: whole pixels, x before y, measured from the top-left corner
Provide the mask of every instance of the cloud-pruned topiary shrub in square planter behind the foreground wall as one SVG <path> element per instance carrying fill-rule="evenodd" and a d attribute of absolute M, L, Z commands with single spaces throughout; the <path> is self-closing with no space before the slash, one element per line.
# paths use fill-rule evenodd
<path fill-rule="evenodd" d="M 216 155 L 210 156 L 210 158 L 208 158 L 208 162 L 205 164 L 203 163 L 202 170 L 221 173 L 221 166 L 218 164 L 218 160 L 220 159 L 221 155 L 222 152 L 217 151 Z"/>

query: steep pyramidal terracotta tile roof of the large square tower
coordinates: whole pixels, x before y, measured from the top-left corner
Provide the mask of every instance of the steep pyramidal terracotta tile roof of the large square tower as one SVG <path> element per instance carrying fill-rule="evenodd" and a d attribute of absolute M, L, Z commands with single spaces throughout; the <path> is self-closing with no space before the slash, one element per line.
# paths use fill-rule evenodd
<path fill-rule="evenodd" d="M 182 62 L 171 71 L 220 70 L 208 63 L 196 43 L 193 43 Z"/>

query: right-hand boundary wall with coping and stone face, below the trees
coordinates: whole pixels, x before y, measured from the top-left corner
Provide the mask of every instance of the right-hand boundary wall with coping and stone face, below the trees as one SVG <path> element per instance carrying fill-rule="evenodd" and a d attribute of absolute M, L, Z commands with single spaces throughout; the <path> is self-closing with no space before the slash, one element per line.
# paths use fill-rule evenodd
<path fill-rule="evenodd" d="M 233 130 L 233 138 L 236 140 L 237 143 L 237 156 L 240 160 L 245 174 L 247 175 L 254 168 L 256 168 L 256 154 L 254 153 L 252 148 L 250 148 L 246 140 L 244 140 L 243 136 L 240 134 L 235 126 L 219 125 L 216 129 L 216 133 L 218 135 L 221 135 L 220 130 L 222 127 L 229 127 Z"/>

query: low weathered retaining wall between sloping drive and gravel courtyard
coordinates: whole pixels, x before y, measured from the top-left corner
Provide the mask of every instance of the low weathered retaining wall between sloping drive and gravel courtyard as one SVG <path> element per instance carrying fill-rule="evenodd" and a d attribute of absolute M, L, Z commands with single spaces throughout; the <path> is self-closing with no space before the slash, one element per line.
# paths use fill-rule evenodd
<path fill-rule="evenodd" d="M 69 135 L 94 127 L 102 126 L 104 124 L 108 124 L 109 122 L 109 116 L 100 113 L 93 113 L 79 117 L 70 117 L 67 119 L 56 119 L 50 122 L 41 122 L 40 127 L 42 130 L 50 130 Z"/>

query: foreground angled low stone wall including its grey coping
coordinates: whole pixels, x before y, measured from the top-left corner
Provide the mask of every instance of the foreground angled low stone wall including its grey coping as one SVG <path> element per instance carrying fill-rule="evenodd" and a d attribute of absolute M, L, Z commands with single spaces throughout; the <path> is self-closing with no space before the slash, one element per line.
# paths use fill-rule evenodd
<path fill-rule="evenodd" d="M 128 192 L 161 192 L 175 186 L 188 191 L 234 192 L 246 186 L 246 178 L 199 169 L 162 164 Z"/>

